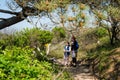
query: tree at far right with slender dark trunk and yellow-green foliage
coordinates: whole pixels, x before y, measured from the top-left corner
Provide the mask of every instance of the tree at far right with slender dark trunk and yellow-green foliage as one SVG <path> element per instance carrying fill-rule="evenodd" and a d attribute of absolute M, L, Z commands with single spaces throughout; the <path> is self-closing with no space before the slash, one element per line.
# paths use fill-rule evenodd
<path fill-rule="evenodd" d="M 74 0 L 73 0 L 74 1 Z M 100 24 L 102 20 L 111 23 L 111 29 L 108 28 L 110 33 L 111 44 L 115 44 L 120 40 L 120 0 L 75 0 L 86 5 L 89 5 L 90 12 L 94 13 L 97 18 L 97 23 Z M 107 12 L 107 18 L 103 17 L 102 12 Z M 97 13 L 97 14 L 96 14 Z"/>

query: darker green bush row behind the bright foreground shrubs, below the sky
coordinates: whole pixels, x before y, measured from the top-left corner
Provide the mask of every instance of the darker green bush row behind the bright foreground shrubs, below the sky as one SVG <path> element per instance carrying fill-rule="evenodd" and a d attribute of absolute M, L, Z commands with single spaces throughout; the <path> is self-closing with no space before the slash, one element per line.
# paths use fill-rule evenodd
<path fill-rule="evenodd" d="M 17 32 L 13 35 L 1 39 L 1 44 L 5 43 L 8 46 L 39 46 L 44 47 L 44 44 L 50 43 L 53 38 L 53 34 L 50 31 L 40 30 L 38 28 L 25 29 L 21 32 Z"/>

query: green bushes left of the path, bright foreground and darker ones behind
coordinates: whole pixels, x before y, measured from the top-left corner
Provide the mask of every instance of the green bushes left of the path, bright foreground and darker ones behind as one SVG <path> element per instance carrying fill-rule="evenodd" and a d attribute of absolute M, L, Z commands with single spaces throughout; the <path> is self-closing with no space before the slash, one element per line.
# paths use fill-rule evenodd
<path fill-rule="evenodd" d="M 56 77 L 62 68 L 45 57 L 45 49 L 42 47 L 51 42 L 52 38 L 51 32 L 36 28 L 25 29 L 13 35 L 2 35 L 0 39 L 0 79 L 70 79 L 66 71 L 61 74 L 61 77 Z M 38 43 L 36 43 L 37 41 Z M 34 46 L 41 50 L 37 51 Z"/>

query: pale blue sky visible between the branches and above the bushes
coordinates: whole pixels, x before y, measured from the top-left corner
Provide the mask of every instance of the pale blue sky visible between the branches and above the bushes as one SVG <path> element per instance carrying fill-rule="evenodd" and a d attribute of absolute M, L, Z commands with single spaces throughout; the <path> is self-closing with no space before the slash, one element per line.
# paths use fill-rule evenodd
<path fill-rule="evenodd" d="M 10 1 L 10 0 L 0 0 L 0 9 L 4 9 L 4 10 L 10 10 L 6 4 L 6 1 Z M 94 15 L 90 15 L 88 13 L 88 11 L 84 11 L 84 13 L 87 15 L 87 23 L 86 23 L 86 26 L 88 27 L 91 27 L 93 26 L 93 22 L 95 21 L 95 18 L 94 18 Z M 12 17 L 12 15 L 10 14 L 5 14 L 5 13 L 0 13 L 0 18 L 9 18 L 9 17 Z M 34 19 L 33 21 L 37 21 L 38 19 Z M 41 19 L 39 19 L 39 21 L 44 25 L 44 24 L 48 24 L 49 28 L 51 28 L 51 26 L 54 26 L 54 24 L 51 23 L 51 21 L 46 18 L 46 17 L 42 17 Z M 14 33 L 16 31 L 21 31 L 23 30 L 24 28 L 33 28 L 33 24 L 30 24 L 29 22 L 27 22 L 27 20 L 23 20 L 21 22 L 18 22 L 12 26 L 9 26 L 7 28 L 4 28 L 2 30 L 0 30 L 0 32 L 3 32 L 3 33 Z M 37 25 L 39 26 L 39 24 Z"/>

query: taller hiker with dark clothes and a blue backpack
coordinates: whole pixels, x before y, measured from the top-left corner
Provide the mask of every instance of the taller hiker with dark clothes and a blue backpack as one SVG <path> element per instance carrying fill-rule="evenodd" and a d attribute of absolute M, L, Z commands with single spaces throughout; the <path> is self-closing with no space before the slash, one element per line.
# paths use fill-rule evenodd
<path fill-rule="evenodd" d="M 78 42 L 74 36 L 72 36 L 71 40 L 71 52 L 72 52 L 72 65 L 76 66 L 77 63 L 77 52 L 78 52 Z"/>

